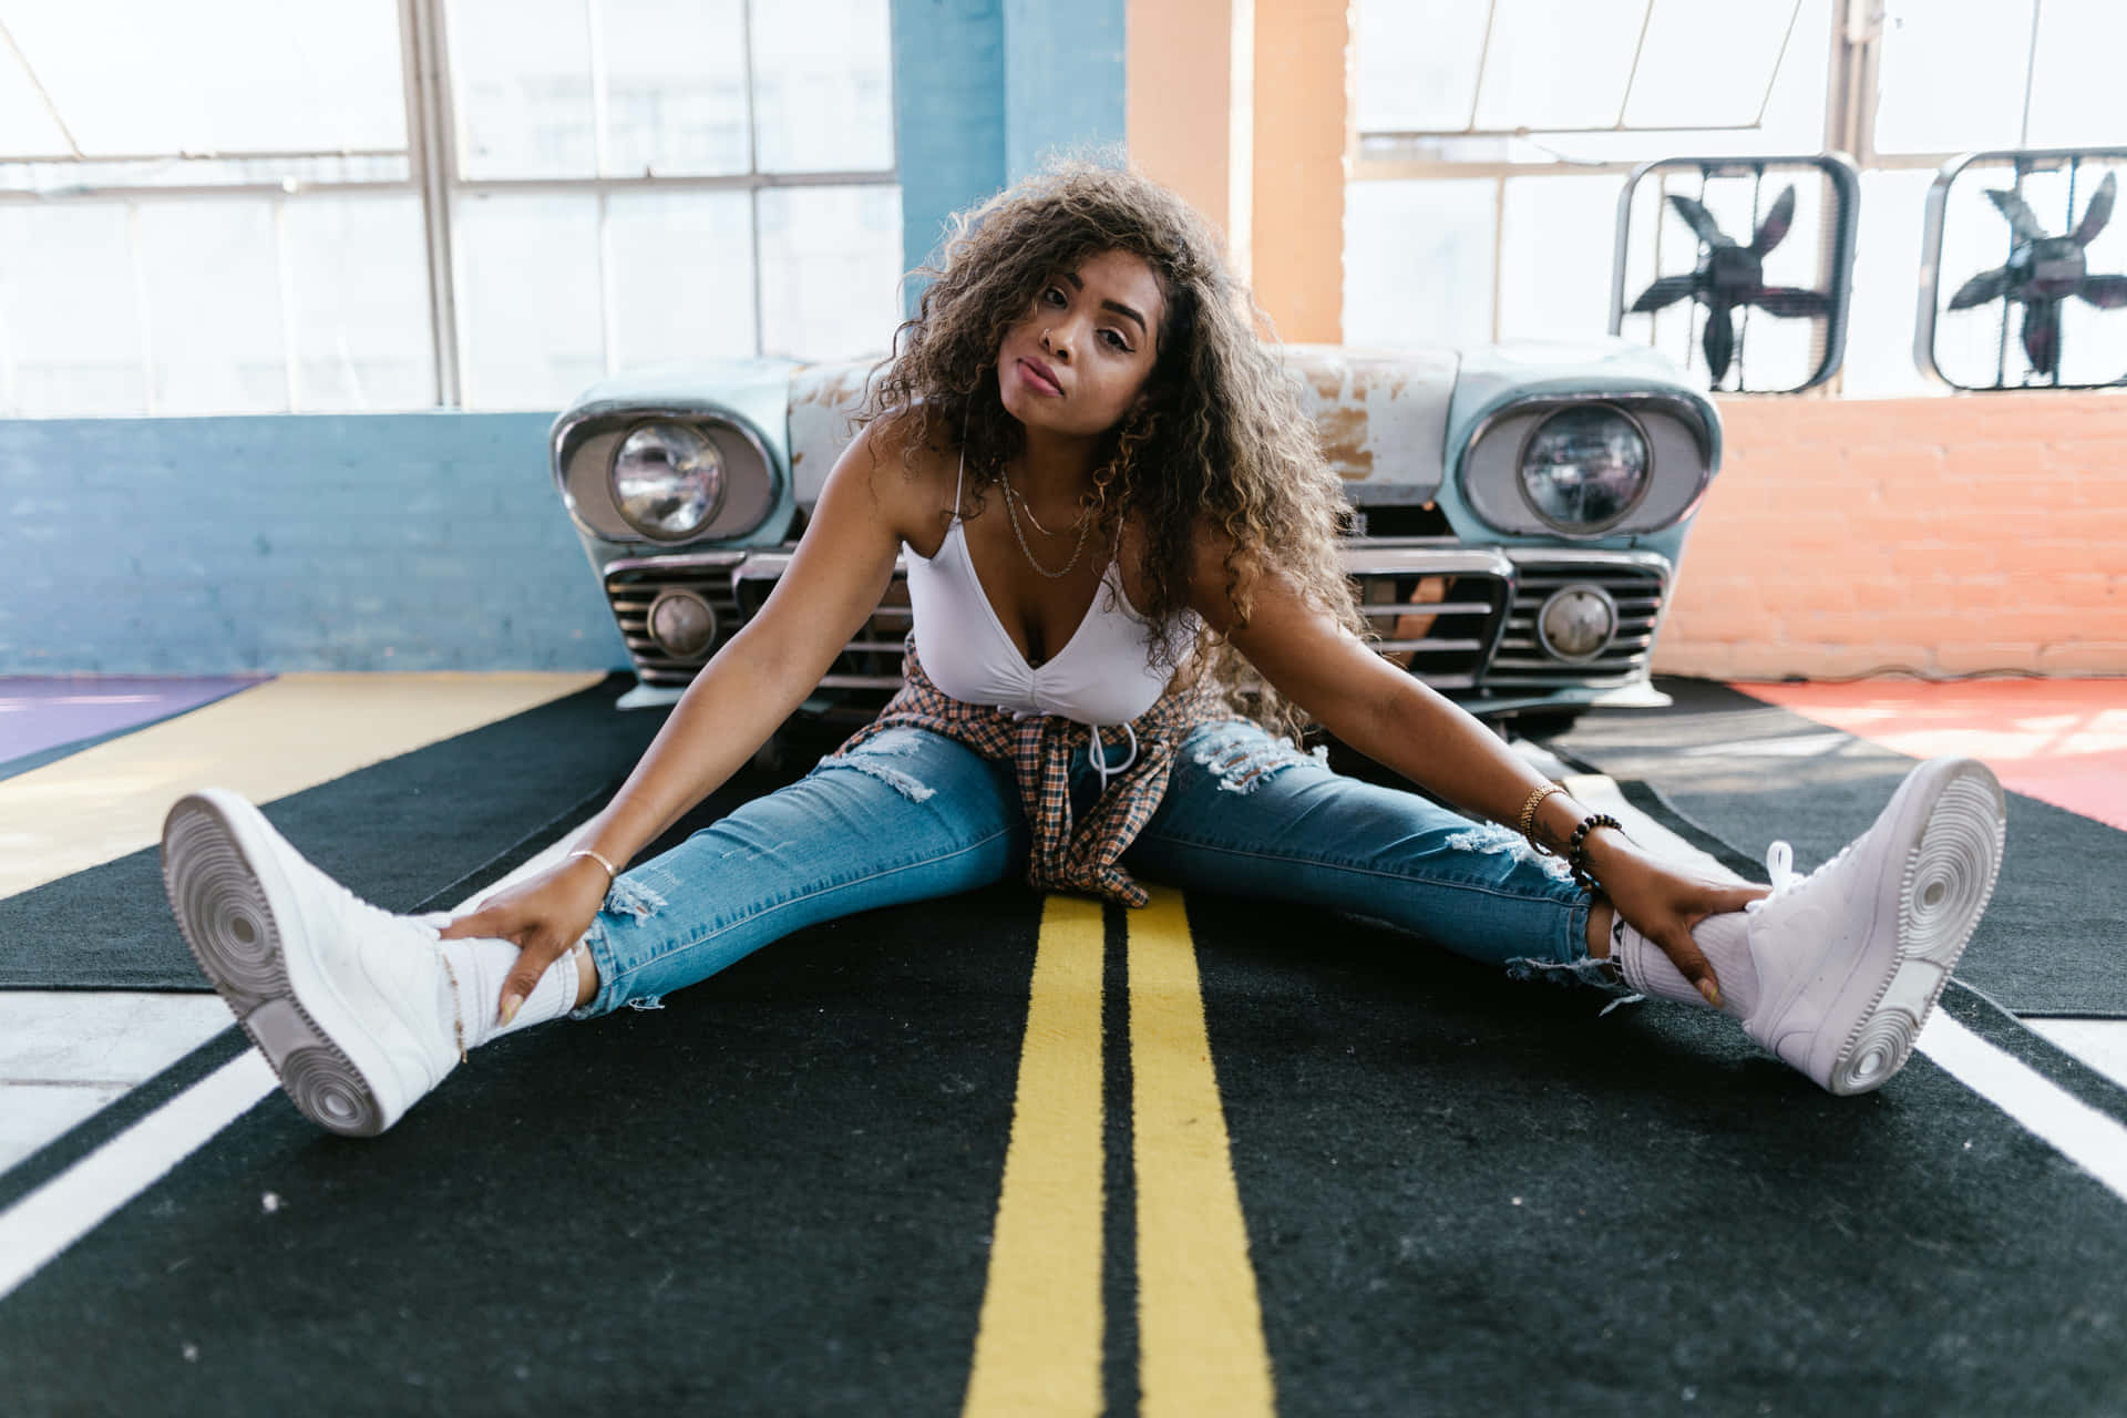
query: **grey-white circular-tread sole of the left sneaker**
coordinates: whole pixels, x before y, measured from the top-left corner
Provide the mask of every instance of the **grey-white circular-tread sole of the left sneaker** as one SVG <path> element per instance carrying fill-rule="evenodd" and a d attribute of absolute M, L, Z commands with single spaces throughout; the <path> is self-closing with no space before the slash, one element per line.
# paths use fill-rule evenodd
<path fill-rule="evenodd" d="M 385 1131 L 376 1088 L 304 1008 L 289 980 L 272 899 L 242 829 L 217 801 L 179 799 L 162 827 L 162 884 L 185 948 L 302 1116 L 345 1137 Z"/>

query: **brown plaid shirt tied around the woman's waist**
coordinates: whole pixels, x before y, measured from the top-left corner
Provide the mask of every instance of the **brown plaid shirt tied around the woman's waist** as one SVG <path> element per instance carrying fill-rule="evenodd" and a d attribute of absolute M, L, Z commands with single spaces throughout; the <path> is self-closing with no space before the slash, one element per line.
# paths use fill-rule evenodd
<path fill-rule="evenodd" d="M 1144 887 L 1121 867 L 1123 850 L 1153 816 L 1168 791 L 1174 755 L 1191 729 L 1204 723 L 1234 719 L 1225 695 L 1200 680 L 1187 689 L 1168 689 L 1153 708 L 1127 725 L 1136 744 L 1121 770 L 1102 774 L 1102 793 L 1085 821 L 1072 823 L 1070 755 L 1093 744 L 1095 763 L 1104 748 L 1095 744 L 1098 729 L 1061 714 L 1012 714 L 987 704 L 964 704 L 938 689 L 917 659 L 917 638 L 910 631 L 902 653 L 902 689 L 878 719 L 857 729 L 830 759 L 840 759 L 866 740 L 887 729 L 929 729 L 942 733 L 991 761 L 1008 761 L 1019 776 L 1019 801 L 1027 812 L 1032 850 L 1027 884 L 1036 891 L 1076 891 L 1081 895 L 1144 906 Z M 1115 733 L 1115 727 L 1108 729 Z M 1112 742 L 1112 738 L 1108 740 Z"/>

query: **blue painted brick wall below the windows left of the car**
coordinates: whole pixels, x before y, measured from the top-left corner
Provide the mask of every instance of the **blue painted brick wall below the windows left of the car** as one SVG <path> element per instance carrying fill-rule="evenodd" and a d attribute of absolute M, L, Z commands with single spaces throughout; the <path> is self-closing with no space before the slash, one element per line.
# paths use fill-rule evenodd
<path fill-rule="evenodd" d="M 551 423 L 0 421 L 0 674 L 625 665 Z"/>

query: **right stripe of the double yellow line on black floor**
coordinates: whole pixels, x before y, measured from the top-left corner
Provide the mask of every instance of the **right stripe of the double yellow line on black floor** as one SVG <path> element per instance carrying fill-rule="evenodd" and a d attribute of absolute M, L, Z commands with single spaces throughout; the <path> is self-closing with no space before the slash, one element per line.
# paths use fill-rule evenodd
<path fill-rule="evenodd" d="M 1129 912 L 1129 1069 L 1140 1414 L 1274 1414 L 1195 944 L 1180 893 L 1159 887 L 1144 910 Z"/>

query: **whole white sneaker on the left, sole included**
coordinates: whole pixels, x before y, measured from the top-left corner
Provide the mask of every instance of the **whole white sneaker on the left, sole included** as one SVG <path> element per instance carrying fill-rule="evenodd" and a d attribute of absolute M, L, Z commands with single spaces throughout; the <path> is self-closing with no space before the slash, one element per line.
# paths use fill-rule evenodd
<path fill-rule="evenodd" d="M 170 808 L 162 880 L 191 957 L 319 1127 L 374 1137 L 464 1059 L 436 927 L 357 899 L 236 793 Z"/>

